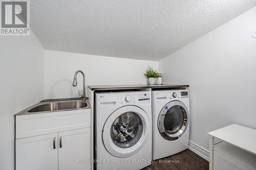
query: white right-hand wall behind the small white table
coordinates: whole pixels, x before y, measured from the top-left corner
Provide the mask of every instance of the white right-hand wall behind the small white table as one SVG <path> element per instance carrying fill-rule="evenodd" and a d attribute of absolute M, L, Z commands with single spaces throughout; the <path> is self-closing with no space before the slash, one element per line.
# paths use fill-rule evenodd
<path fill-rule="evenodd" d="M 164 83 L 190 85 L 190 140 L 207 150 L 209 131 L 256 129 L 255 32 L 256 7 L 159 62 Z"/>

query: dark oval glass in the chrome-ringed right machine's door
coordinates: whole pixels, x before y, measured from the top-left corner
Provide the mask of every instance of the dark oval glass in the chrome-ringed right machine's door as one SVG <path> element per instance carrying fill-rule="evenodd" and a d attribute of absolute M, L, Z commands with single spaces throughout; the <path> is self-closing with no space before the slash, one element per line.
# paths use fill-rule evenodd
<path fill-rule="evenodd" d="M 184 114 L 185 109 L 181 106 L 171 107 L 164 116 L 164 129 L 169 134 L 175 134 L 179 132 L 184 123 Z"/>

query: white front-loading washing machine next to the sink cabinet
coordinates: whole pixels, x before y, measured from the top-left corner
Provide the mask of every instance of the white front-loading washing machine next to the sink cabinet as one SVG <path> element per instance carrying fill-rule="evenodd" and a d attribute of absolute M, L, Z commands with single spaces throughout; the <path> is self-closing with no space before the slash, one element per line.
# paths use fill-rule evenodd
<path fill-rule="evenodd" d="M 152 160 L 150 91 L 95 94 L 95 167 L 141 169 Z"/>

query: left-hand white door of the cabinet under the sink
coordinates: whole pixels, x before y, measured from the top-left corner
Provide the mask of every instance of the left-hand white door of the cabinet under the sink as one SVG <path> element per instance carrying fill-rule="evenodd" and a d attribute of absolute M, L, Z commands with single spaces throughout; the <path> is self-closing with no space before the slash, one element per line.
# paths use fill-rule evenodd
<path fill-rule="evenodd" d="M 16 170 L 58 170 L 58 133 L 16 139 Z"/>

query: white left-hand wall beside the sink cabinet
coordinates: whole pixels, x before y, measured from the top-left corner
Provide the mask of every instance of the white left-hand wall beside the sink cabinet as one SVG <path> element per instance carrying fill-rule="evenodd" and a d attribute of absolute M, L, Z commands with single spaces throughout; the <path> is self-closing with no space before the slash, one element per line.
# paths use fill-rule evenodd
<path fill-rule="evenodd" d="M 36 36 L 0 36 L 0 169 L 14 169 L 14 114 L 39 102 L 44 48 Z"/>

